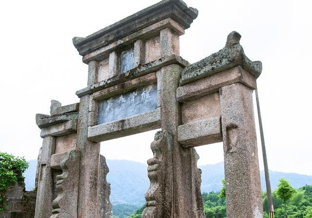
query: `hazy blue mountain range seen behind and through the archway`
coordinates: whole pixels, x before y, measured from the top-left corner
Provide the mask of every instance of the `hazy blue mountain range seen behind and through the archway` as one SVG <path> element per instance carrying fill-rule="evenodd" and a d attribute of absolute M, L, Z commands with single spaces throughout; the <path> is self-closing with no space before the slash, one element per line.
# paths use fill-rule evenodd
<path fill-rule="evenodd" d="M 29 168 L 24 173 L 26 190 L 35 186 L 37 160 L 29 160 Z M 144 194 L 149 187 L 147 165 L 130 160 L 106 160 L 109 167 L 107 181 L 111 183 L 110 201 L 113 205 L 113 214 L 126 217 L 132 214 L 145 203 Z M 199 166 L 202 170 L 202 192 L 216 192 L 222 188 L 221 179 L 224 178 L 223 162 L 214 165 Z M 265 177 L 261 173 L 262 190 L 266 189 Z M 295 173 L 270 171 L 272 190 L 277 188 L 278 179 L 286 178 L 294 188 L 312 185 L 312 176 Z"/>

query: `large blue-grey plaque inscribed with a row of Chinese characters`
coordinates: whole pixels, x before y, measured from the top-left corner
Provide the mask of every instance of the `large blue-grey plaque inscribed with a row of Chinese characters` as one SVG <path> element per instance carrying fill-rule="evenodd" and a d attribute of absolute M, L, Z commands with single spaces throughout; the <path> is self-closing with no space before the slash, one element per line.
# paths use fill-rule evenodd
<path fill-rule="evenodd" d="M 98 101 L 98 124 L 142 114 L 157 108 L 157 83 Z"/>

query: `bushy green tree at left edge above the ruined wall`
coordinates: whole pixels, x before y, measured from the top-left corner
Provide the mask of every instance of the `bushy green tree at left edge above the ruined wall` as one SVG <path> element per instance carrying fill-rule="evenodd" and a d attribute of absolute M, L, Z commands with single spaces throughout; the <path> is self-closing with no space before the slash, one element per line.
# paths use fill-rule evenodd
<path fill-rule="evenodd" d="M 4 212 L 7 189 L 15 182 L 20 184 L 24 181 L 22 174 L 28 167 L 24 158 L 14 157 L 0 152 L 0 212 Z"/>

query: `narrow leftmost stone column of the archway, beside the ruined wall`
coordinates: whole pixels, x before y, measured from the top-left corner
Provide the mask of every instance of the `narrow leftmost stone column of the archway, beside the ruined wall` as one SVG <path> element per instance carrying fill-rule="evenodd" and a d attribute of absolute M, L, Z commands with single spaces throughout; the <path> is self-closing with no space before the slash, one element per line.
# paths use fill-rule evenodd
<path fill-rule="evenodd" d="M 55 151 L 55 137 L 46 137 L 42 142 L 41 155 L 38 159 L 40 169 L 36 199 L 35 218 L 50 218 L 52 215 L 52 177 L 50 160 Z"/>

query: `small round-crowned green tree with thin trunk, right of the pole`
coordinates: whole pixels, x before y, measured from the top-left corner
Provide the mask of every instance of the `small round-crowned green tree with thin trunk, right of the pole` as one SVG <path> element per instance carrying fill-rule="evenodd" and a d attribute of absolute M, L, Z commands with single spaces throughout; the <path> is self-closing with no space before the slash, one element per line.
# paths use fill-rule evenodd
<path fill-rule="evenodd" d="M 287 217 L 287 204 L 286 202 L 292 198 L 292 196 L 296 193 L 296 190 L 289 184 L 286 178 L 280 178 L 279 183 L 276 189 L 276 196 L 280 198 L 285 203 L 285 215 Z"/>

